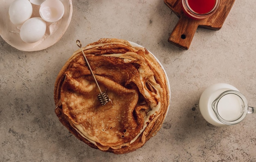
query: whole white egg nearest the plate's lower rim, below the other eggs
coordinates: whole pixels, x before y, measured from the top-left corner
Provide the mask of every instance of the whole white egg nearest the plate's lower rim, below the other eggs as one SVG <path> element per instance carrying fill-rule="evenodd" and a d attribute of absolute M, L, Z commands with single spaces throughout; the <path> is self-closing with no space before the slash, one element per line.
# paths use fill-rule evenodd
<path fill-rule="evenodd" d="M 34 43 L 43 38 L 45 31 L 46 23 L 42 18 L 30 18 L 22 24 L 20 38 L 26 43 Z"/>

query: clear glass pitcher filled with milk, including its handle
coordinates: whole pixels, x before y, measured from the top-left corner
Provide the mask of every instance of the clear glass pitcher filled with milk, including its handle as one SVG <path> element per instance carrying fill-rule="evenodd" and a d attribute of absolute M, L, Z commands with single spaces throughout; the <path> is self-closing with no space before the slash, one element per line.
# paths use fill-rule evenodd
<path fill-rule="evenodd" d="M 215 126 L 238 124 L 247 113 L 255 113 L 245 96 L 236 87 L 225 83 L 205 89 L 199 100 L 199 109 L 204 119 Z"/>

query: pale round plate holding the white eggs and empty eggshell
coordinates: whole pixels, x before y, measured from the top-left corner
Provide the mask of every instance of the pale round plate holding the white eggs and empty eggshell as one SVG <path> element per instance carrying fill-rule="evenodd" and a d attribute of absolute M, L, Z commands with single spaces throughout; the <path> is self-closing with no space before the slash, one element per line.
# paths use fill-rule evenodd
<path fill-rule="evenodd" d="M 64 15 L 55 23 L 47 22 L 45 36 L 35 43 L 25 43 L 20 38 L 20 27 L 11 23 L 9 19 L 9 6 L 14 0 L 0 0 L 0 36 L 12 47 L 21 51 L 40 51 L 46 49 L 61 39 L 72 17 L 72 0 L 61 0 L 64 5 Z M 39 7 L 32 4 L 33 13 L 31 17 L 40 17 Z"/>

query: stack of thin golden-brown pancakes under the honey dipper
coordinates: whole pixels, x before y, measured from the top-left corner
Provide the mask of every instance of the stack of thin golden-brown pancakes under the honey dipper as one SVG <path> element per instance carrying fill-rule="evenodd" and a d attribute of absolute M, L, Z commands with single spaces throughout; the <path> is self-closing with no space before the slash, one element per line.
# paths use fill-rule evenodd
<path fill-rule="evenodd" d="M 102 91 L 111 102 L 102 106 L 99 89 L 81 50 L 57 76 L 55 113 L 79 140 L 116 154 L 135 151 L 156 135 L 169 106 L 168 79 L 145 48 L 126 40 L 100 39 L 83 47 Z"/>

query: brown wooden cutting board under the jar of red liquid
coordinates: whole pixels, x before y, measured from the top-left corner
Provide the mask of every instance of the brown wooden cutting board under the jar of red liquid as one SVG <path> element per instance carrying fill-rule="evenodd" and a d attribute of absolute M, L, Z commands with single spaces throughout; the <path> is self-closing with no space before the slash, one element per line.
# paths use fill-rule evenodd
<path fill-rule="evenodd" d="M 224 24 L 235 0 L 220 0 L 217 11 L 210 17 L 195 20 L 187 17 L 182 10 L 182 0 L 164 0 L 164 3 L 180 18 L 168 42 L 188 50 L 198 27 L 219 30 Z M 200 43 L 200 42 L 199 42 Z"/>

